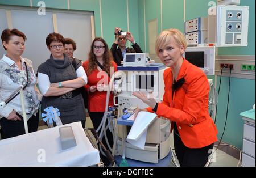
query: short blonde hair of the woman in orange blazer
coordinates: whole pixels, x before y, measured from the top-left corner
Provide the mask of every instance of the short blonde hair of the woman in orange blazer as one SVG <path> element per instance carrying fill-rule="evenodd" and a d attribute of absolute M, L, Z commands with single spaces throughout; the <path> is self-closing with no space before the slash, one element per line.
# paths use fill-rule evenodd
<path fill-rule="evenodd" d="M 179 29 L 170 28 L 162 31 L 155 41 L 155 52 L 158 55 L 158 50 L 163 49 L 165 46 L 170 44 L 171 38 L 175 40 L 176 44 L 179 46 L 184 46 L 184 49 L 187 48 L 187 41 L 185 36 Z"/>

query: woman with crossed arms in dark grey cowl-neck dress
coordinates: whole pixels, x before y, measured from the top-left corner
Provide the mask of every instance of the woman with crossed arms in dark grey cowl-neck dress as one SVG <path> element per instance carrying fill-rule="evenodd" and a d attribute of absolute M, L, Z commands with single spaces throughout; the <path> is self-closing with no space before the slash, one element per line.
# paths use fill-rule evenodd
<path fill-rule="evenodd" d="M 64 54 L 64 37 L 59 33 L 50 33 L 46 45 L 51 56 L 38 67 L 42 113 L 50 117 L 49 112 L 54 112 L 51 111 L 54 107 L 63 124 L 85 121 L 84 100 L 78 88 L 87 83 L 87 76 L 81 62 L 73 62 Z"/>

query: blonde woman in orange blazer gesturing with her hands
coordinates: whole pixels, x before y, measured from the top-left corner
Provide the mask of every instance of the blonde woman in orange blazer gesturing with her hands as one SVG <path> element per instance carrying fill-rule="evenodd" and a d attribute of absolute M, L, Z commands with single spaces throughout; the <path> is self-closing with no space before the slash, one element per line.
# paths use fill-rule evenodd
<path fill-rule="evenodd" d="M 178 29 L 167 29 L 156 39 L 156 54 L 167 67 L 164 71 L 162 103 L 133 92 L 149 107 L 139 111 L 155 112 L 170 119 L 174 130 L 174 147 L 180 166 L 205 166 L 217 128 L 208 113 L 209 83 L 198 67 L 183 58 L 187 43 Z"/>

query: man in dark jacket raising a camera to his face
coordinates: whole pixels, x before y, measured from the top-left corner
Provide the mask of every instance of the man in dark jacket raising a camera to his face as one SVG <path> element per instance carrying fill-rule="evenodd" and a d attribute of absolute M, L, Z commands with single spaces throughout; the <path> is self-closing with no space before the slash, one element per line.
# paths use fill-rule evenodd
<path fill-rule="evenodd" d="M 130 32 L 122 32 L 121 28 L 115 27 L 115 41 L 111 47 L 111 52 L 117 66 L 121 66 L 121 61 L 125 53 L 143 53 L 141 47 L 135 42 Z M 127 40 L 131 41 L 133 48 L 126 48 Z M 118 47 L 117 47 L 118 46 Z"/>

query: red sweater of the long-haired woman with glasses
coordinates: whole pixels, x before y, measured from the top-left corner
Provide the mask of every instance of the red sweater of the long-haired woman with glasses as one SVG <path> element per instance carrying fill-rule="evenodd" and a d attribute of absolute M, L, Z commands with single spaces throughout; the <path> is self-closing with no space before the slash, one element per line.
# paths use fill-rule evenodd
<path fill-rule="evenodd" d="M 113 67 L 114 71 L 117 71 L 117 64 L 113 61 Z M 84 70 L 87 74 L 87 68 L 89 65 L 89 60 L 82 63 L 82 66 L 84 67 Z M 97 78 L 98 75 L 98 78 Z M 85 86 L 86 91 L 88 91 L 90 86 L 97 86 L 97 84 L 108 84 L 110 81 L 110 78 L 108 74 L 105 73 L 105 71 L 99 71 L 97 68 L 92 71 L 90 75 L 87 74 L 88 83 Z M 104 112 L 106 107 L 106 91 L 98 91 L 95 92 L 89 92 L 88 91 L 88 109 L 89 112 Z M 109 97 L 109 106 L 113 106 L 113 97 L 114 95 L 112 92 L 110 93 Z"/>

